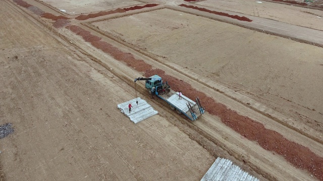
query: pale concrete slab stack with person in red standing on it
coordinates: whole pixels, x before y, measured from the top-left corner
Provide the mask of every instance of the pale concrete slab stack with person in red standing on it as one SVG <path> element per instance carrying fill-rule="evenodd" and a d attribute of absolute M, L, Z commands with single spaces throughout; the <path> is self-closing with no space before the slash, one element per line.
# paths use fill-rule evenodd
<path fill-rule="evenodd" d="M 138 105 L 137 102 L 138 101 Z M 129 112 L 128 105 L 131 104 L 131 112 Z M 144 119 L 147 119 L 153 115 L 158 114 L 158 111 L 154 110 L 145 100 L 136 98 L 118 105 L 118 109 L 121 113 L 124 113 L 130 118 L 133 123 L 138 123 Z"/>

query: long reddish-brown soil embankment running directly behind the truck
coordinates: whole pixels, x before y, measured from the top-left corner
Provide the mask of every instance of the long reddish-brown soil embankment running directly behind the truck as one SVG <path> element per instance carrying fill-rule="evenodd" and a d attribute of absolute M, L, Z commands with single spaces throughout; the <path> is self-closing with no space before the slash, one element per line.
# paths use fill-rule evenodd
<path fill-rule="evenodd" d="M 82 36 L 85 41 L 90 42 L 94 47 L 111 54 L 119 61 L 124 61 L 135 70 L 144 72 L 146 77 L 158 74 L 163 77 L 164 80 L 169 81 L 172 85 L 172 89 L 175 91 L 181 91 L 190 99 L 199 97 L 201 104 L 206 108 L 206 111 L 211 115 L 220 117 L 221 121 L 227 126 L 234 129 L 245 138 L 256 141 L 264 149 L 282 155 L 295 167 L 308 170 L 319 180 L 323 180 L 323 158 L 317 156 L 307 147 L 287 140 L 278 132 L 266 129 L 261 123 L 248 117 L 241 116 L 236 111 L 228 109 L 223 104 L 216 103 L 204 93 L 197 91 L 187 82 L 167 75 L 163 70 L 151 69 L 151 65 L 145 63 L 143 60 L 136 59 L 132 54 L 122 52 L 111 44 L 101 41 L 101 38 L 91 35 L 89 31 L 75 25 L 68 26 L 67 28 L 77 35 Z M 181 87 L 186 88 L 181 89 Z"/>

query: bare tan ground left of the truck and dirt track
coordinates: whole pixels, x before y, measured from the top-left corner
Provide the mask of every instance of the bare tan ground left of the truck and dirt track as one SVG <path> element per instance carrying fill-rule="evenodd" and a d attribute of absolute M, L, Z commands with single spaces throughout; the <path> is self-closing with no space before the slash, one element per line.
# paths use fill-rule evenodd
<path fill-rule="evenodd" d="M 134 89 L 0 7 L 1 123 L 15 125 L 1 140 L 4 180 L 196 180 L 207 171 L 214 157 L 163 113 L 134 125 L 116 109 Z"/>

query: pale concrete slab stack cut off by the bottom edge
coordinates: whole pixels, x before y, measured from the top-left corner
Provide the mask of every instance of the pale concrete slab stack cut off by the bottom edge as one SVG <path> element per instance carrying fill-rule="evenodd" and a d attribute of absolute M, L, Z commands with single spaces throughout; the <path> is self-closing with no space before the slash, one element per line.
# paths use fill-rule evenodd
<path fill-rule="evenodd" d="M 201 181 L 259 181 L 258 178 L 240 169 L 231 160 L 218 157 L 212 166 L 207 170 Z"/>

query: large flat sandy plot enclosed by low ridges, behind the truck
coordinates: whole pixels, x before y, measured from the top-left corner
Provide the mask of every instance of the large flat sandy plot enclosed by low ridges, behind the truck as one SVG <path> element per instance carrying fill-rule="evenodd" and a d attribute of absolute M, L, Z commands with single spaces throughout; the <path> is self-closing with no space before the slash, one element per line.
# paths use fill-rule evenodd
<path fill-rule="evenodd" d="M 296 119 L 303 117 L 295 112 L 309 117 L 317 122 L 311 126 L 322 130 L 323 52 L 319 47 L 170 9 L 92 25 L 164 57 L 161 61 L 262 99 L 273 109 L 291 111 L 289 115 Z M 286 110 L 285 105 L 297 108 Z"/>

